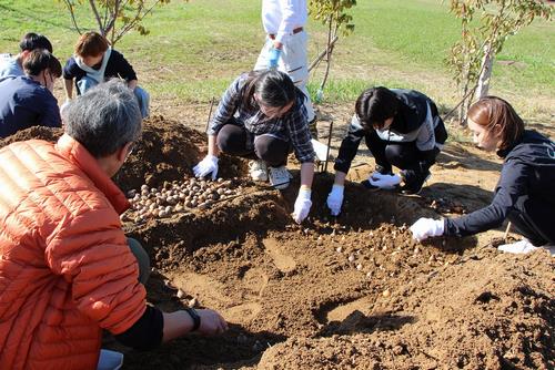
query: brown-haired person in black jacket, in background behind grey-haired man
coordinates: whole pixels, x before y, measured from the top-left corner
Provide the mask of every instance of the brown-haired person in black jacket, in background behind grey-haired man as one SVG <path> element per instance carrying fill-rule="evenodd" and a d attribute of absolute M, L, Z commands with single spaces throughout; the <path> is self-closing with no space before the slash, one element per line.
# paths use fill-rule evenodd
<path fill-rule="evenodd" d="M 133 66 L 120 52 L 113 50 L 108 40 L 100 33 L 91 31 L 81 34 L 75 43 L 74 55 L 68 60 L 63 68 L 67 100 L 61 110 L 73 97 L 73 83 L 77 88 L 77 94 L 81 95 L 92 86 L 114 78 L 125 81 L 139 101 L 143 119 L 147 117 L 150 96 L 147 91 L 138 86 Z"/>

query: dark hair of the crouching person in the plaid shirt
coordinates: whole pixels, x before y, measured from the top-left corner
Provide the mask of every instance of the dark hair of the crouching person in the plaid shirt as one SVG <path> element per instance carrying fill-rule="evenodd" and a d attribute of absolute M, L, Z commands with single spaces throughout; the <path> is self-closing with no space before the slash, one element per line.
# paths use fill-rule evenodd
<path fill-rule="evenodd" d="M 256 107 L 254 94 L 259 95 L 259 103 L 272 107 L 285 106 L 296 99 L 291 78 L 273 69 L 250 72 L 243 89 L 242 103 L 248 110 Z"/>

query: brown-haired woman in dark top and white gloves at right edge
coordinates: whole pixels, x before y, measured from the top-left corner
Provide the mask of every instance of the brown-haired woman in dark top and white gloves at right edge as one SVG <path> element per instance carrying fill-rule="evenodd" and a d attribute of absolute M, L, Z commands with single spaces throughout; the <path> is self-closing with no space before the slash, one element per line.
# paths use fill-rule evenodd
<path fill-rule="evenodd" d="M 524 239 L 500 250 L 527 253 L 544 246 L 555 253 L 555 143 L 524 130 L 523 120 L 509 103 L 486 96 L 468 110 L 474 142 L 504 158 L 495 196 L 487 207 L 460 218 L 421 218 L 411 232 L 417 240 L 432 236 L 466 236 L 498 227 L 508 218 Z"/>

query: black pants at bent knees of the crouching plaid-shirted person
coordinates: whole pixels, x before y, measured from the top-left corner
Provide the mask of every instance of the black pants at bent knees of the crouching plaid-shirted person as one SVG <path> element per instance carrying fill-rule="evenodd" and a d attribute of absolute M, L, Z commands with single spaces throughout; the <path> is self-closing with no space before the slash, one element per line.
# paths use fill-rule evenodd
<path fill-rule="evenodd" d="M 254 136 L 234 123 L 224 125 L 216 137 L 220 151 L 250 160 L 262 160 L 271 167 L 287 163 L 291 144 L 269 134 Z"/>

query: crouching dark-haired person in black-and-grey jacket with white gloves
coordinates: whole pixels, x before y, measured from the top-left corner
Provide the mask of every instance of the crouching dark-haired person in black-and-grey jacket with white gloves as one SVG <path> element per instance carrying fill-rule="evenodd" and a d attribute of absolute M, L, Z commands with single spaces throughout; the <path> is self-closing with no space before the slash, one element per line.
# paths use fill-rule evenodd
<path fill-rule="evenodd" d="M 376 163 L 363 185 L 370 189 L 395 188 L 404 181 L 401 191 L 417 194 L 447 131 L 435 103 L 421 92 L 386 88 L 364 91 L 356 100 L 355 115 L 335 160 L 335 183 L 327 197 L 332 215 L 341 212 L 345 176 L 363 137 Z M 393 166 L 402 169 L 401 175 L 393 174 Z"/>

